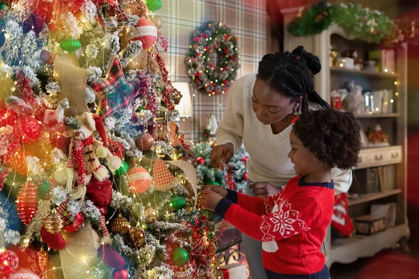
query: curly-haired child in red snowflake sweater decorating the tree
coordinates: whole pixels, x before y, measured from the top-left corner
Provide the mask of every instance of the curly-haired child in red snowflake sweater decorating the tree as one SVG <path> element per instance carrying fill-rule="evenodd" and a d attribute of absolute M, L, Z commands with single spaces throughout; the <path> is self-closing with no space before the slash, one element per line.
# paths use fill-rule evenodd
<path fill-rule="evenodd" d="M 360 128 L 350 112 L 310 111 L 296 120 L 289 141 L 297 176 L 280 193 L 258 199 L 207 186 L 201 206 L 263 241 L 267 278 L 329 279 L 321 243 L 333 213 L 332 168 L 355 167 Z"/>

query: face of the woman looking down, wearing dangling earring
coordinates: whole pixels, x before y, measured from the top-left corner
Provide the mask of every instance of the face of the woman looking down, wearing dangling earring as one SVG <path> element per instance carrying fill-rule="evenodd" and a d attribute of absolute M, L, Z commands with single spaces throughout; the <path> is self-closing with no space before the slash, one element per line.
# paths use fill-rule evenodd
<path fill-rule="evenodd" d="M 265 125 L 270 125 L 293 114 L 295 108 L 299 110 L 301 100 L 293 101 L 290 97 L 272 89 L 267 82 L 256 79 L 251 106 L 258 120 Z"/>

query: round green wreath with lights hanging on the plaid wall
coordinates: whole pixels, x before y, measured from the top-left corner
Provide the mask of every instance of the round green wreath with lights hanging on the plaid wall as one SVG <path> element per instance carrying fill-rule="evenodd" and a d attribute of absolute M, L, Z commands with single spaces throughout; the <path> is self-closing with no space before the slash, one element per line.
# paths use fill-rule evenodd
<path fill-rule="evenodd" d="M 226 93 L 240 68 L 237 37 L 231 29 L 221 22 L 205 24 L 193 33 L 189 48 L 186 65 L 196 88 L 209 96 Z"/>

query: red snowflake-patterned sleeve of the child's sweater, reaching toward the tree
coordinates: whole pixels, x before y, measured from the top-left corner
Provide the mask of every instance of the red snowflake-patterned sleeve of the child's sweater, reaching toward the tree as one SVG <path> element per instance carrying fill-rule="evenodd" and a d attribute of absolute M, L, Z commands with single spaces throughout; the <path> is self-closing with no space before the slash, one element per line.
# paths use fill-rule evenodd
<path fill-rule="evenodd" d="M 298 194 L 277 206 L 274 213 L 258 216 L 238 204 L 231 204 L 225 219 L 244 234 L 263 242 L 286 239 L 320 224 L 321 208 L 312 195 Z"/>

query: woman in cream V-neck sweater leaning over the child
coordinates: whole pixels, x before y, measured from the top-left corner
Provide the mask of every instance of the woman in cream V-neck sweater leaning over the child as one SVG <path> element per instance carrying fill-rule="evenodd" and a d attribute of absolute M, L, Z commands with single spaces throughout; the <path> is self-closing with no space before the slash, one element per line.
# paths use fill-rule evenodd
<path fill-rule="evenodd" d="M 258 74 L 246 75 L 229 90 L 223 119 L 216 130 L 217 146 L 211 164 L 223 168 L 242 143 L 249 153 L 248 195 L 267 197 L 279 192 L 295 176 L 288 158 L 291 121 L 309 109 L 328 108 L 314 91 L 314 75 L 321 70 L 317 56 L 297 47 L 292 53 L 267 54 L 259 63 Z M 332 169 L 335 193 L 351 185 L 350 170 Z M 243 234 L 244 250 L 251 277 L 265 279 L 262 243 Z"/>

